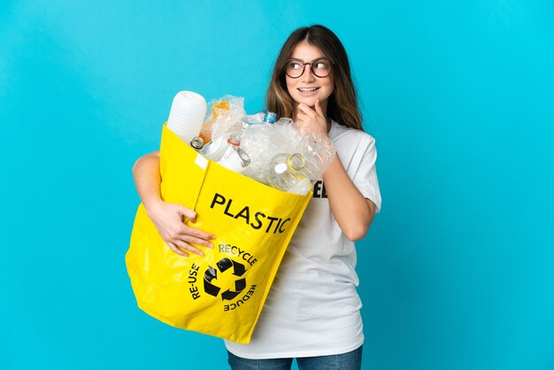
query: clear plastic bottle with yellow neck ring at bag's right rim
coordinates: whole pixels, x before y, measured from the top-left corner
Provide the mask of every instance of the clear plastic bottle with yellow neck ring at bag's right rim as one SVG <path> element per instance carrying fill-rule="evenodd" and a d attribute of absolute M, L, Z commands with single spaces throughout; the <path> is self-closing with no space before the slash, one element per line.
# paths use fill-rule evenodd
<path fill-rule="evenodd" d="M 300 153 L 281 153 L 273 157 L 267 168 L 267 182 L 281 191 L 288 191 L 306 178 L 301 172 L 306 164 Z"/>

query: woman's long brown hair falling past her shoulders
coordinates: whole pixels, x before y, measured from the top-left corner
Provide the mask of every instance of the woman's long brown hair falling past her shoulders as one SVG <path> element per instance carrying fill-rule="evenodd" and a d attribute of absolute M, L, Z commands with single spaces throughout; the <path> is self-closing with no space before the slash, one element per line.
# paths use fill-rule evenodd
<path fill-rule="evenodd" d="M 327 117 L 342 126 L 364 130 L 362 115 L 358 109 L 356 89 L 350 75 L 350 62 L 339 38 L 327 27 L 313 25 L 296 29 L 283 44 L 275 62 L 273 74 L 265 96 L 267 110 L 277 117 L 292 117 L 295 101 L 287 89 L 285 64 L 299 42 L 308 42 L 317 47 L 332 63 L 333 94 L 327 102 Z"/>

